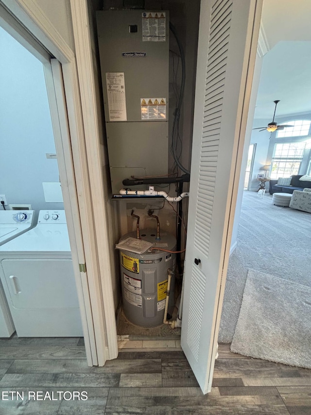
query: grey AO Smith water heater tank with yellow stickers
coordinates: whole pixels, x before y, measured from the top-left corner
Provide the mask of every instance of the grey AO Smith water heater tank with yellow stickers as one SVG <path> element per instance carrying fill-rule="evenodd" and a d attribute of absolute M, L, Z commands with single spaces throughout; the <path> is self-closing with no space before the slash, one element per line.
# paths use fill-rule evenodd
<path fill-rule="evenodd" d="M 128 236 L 136 237 L 136 232 L 123 235 L 120 242 Z M 176 238 L 168 233 L 161 234 L 156 240 L 156 231 L 143 229 L 141 239 L 152 242 L 154 247 L 167 251 L 176 250 Z M 123 311 L 133 324 L 142 327 L 161 325 L 164 318 L 168 269 L 174 271 L 175 254 L 160 250 L 137 254 L 120 251 L 121 286 Z M 174 308 L 174 275 L 171 280 L 170 302 L 168 311 Z"/>

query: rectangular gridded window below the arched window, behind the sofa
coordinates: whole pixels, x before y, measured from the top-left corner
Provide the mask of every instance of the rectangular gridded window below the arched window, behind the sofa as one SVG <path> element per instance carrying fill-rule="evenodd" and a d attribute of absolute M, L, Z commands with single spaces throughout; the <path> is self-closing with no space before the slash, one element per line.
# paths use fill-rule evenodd
<path fill-rule="evenodd" d="M 277 143 L 272 157 L 271 179 L 298 174 L 306 142 Z"/>

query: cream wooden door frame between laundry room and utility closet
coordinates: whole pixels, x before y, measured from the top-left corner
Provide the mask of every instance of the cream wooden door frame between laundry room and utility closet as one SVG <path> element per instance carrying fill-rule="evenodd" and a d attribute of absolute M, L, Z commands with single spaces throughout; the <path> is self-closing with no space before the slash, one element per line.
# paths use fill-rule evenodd
<path fill-rule="evenodd" d="M 72 159 L 69 160 L 68 154 L 66 154 L 64 161 L 73 165 L 74 176 L 70 177 L 69 186 L 72 192 L 77 195 L 78 203 L 75 211 L 71 209 L 71 206 L 68 207 L 71 217 L 76 219 L 72 221 L 74 229 L 69 227 L 69 238 L 70 241 L 76 241 L 76 247 L 79 247 L 77 249 L 79 263 L 81 257 L 85 258 L 87 268 L 87 281 L 85 281 L 86 284 L 82 284 L 82 289 L 90 298 L 93 326 L 91 329 L 94 330 L 96 343 L 96 353 L 91 361 L 88 359 L 87 362 L 89 365 L 103 366 L 107 359 L 117 357 L 118 342 L 108 252 L 102 166 L 100 149 L 98 148 L 95 94 L 94 89 L 86 82 L 86 76 L 88 78 L 91 77 L 90 75 L 93 76 L 93 70 L 89 66 L 83 68 L 84 60 L 89 64 L 89 59 L 86 59 L 84 53 L 90 53 L 91 57 L 88 48 L 90 42 L 87 32 L 87 4 L 85 0 L 70 2 L 72 13 L 76 10 L 76 15 L 73 15 L 73 18 L 77 18 L 79 30 L 83 28 L 86 34 L 84 39 L 77 40 L 75 38 L 75 47 L 80 48 L 80 52 L 82 51 L 82 55 L 78 57 L 78 53 L 76 56 L 51 21 L 42 13 L 35 0 L 1 1 L 13 17 L 21 22 L 37 40 L 38 45 L 42 45 L 43 49 L 49 51 L 62 65 L 67 106 L 66 116 L 68 116 L 72 151 Z M 12 24 L 9 23 L 9 26 L 14 30 Z M 74 36 L 77 36 L 79 31 L 77 26 L 74 26 Z M 26 36 L 22 34 L 20 37 L 25 39 Z M 28 44 L 27 39 L 25 42 Z M 36 44 L 35 41 L 34 44 Z M 33 52 L 33 50 L 31 51 Z M 86 73 L 85 70 L 89 72 Z M 82 98 L 85 102 L 82 102 Z M 89 105 L 91 105 L 90 108 Z M 93 139 L 85 140 L 85 137 Z M 77 212 L 78 217 L 76 217 Z M 96 228 L 102 231 L 96 233 Z M 79 240 L 79 235 L 82 236 L 81 240 Z M 80 278 L 82 278 L 82 274 L 84 273 L 80 273 Z"/>

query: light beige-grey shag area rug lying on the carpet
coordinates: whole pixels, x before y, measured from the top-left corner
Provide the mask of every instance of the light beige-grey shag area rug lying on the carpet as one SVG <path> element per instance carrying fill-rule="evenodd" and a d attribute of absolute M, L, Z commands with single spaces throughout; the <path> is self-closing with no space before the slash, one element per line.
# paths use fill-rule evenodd
<path fill-rule="evenodd" d="M 311 368 L 311 288 L 249 270 L 231 351 Z"/>

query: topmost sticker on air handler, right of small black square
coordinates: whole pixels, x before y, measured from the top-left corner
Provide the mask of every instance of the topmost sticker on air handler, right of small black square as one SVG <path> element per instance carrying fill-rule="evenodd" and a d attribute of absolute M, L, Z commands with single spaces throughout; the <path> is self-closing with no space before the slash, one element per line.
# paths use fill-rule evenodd
<path fill-rule="evenodd" d="M 165 42 L 165 12 L 142 12 L 142 41 Z"/>

